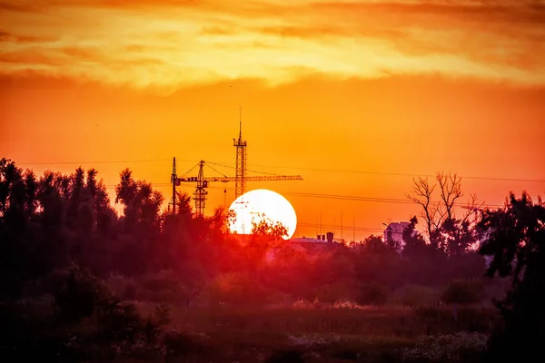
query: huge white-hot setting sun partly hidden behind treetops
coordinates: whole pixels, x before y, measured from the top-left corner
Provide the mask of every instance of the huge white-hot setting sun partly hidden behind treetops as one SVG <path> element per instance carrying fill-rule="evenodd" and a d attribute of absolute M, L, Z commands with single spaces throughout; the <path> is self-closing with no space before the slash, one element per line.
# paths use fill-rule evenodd
<path fill-rule="evenodd" d="M 284 240 L 291 239 L 297 228 L 297 215 L 292 204 L 275 191 L 248 191 L 233 201 L 229 210 L 236 214 L 229 225 L 232 233 L 251 234 L 253 222 L 259 223 L 263 215 L 274 223 L 282 223 L 287 230 Z"/>

